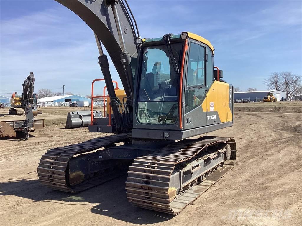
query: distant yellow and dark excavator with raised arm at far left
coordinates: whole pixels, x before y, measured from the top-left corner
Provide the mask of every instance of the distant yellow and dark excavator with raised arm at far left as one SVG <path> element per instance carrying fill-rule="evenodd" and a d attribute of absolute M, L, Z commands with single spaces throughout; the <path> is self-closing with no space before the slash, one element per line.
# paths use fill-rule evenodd
<path fill-rule="evenodd" d="M 23 115 L 27 100 L 31 103 L 34 115 L 42 114 L 42 110 L 37 109 L 37 94 L 34 93 L 34 81 L 34 73 L 31 72 L 24 80 L 22 96 L 20 97 L 17 93 L 11 95 L 11 108 L 8 109 L 9 115 Z"/>

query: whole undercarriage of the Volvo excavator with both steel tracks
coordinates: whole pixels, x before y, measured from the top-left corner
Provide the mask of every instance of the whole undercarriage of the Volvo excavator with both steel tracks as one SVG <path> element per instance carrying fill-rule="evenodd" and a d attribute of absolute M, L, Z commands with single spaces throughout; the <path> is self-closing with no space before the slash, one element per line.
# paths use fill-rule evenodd
<path fill-rule="evenodd" d="M 46 187 L 77 193 L 128 173 L 129 202 L 178 214 L 235 161 L 236 143 L 230 137 L 150 142 L 118 134 L 48 150 L 38 177 Z"/>

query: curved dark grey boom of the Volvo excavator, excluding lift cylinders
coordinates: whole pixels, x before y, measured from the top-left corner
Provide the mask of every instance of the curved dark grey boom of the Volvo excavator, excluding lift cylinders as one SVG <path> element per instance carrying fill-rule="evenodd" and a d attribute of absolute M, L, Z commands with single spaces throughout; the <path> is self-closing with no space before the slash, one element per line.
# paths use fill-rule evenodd
<path fill-rule="evenodd" d="M 127 10 L 127 6 L 125 7 L 122 1 L 56 0 L 56 2 L 59 2 L 69 8 L 92 29 L 107 50 L 114 67 L 120 76 L 125 93 L 129 96 L 131 90 L 128 88 L 128 83 L 133 83 L 133 80 L 127 82 L 123 64 L 120 62 L 120 55 L 127 47 L 127 52 L 129 52 L 131 63 L 133 64 L 132 70 L 135 73 L 137 60 L 137 46 L 135 43 L 137 34 L 135 27 L 133 26 L 133 20 L 131 19 L 130 12 Z M 112 10 L 113 5 L 117 11 L 117 14 L 115 15 Z M 119 31 L 117 29 L 117 15 L 123 38 L 120 38 Z M 100 53 L 100 55 L 103 54 Z M 106 86 L 110 86 L 110 83 L 106 83 Z M 110 92 L 109 89 L 108 92 Z"/>

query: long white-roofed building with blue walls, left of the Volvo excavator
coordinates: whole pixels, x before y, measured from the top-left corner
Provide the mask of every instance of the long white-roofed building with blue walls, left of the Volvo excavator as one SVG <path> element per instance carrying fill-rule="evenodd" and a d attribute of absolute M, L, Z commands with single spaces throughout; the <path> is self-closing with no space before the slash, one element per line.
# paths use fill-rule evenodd
<path fill-rule="evenodd" d="M 80 95 L 65 95 L 65 102 L 88 101 L 91 104 L 91 99 Z M 41 106 L 57 106 L 64 103 L 64 96 L 47 96 L 39 99 Z"/>

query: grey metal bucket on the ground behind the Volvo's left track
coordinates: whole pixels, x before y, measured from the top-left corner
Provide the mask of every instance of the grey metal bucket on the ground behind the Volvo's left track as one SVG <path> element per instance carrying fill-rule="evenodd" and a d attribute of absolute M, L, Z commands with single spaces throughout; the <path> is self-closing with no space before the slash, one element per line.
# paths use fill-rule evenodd
<path fill-rule="evenodd" d="M 103 117 L 101 111 L 93 111 L 93 117 Z M 91 111 L 72 111 L 67 113 L 65 129 L 87 127 L 91 122 Z"/>

